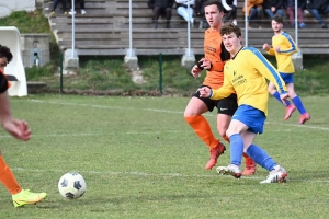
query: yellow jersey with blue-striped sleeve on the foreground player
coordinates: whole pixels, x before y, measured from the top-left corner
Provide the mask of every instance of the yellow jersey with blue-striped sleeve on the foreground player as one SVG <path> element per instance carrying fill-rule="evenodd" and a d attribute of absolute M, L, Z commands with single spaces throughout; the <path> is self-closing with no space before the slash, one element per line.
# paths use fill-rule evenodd
<path fill-rule="evenodd" d="M 220 100 L 236 92 L 238 105 L 250 105 L 268 115 L 268 83 L 273 82 L 279 93 L 286 93 L 286 87 L 272 64 L 253 47 L 242 48 L 224 67 L 224 84 L 213 90 L 211 99 Z"/>

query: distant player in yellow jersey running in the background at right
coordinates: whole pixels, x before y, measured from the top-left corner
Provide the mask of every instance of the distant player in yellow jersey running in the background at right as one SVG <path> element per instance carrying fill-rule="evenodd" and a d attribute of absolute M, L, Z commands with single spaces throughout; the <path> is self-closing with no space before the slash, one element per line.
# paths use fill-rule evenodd
<path fill-rule="evenodd" d="M 290 101 L 286 101 L 285 116 L 284 120 L 288 119 L 294 111 L 297 110 L 300 113 L 300 118 L 298 124 L 304 124 L 306 120 L 310 119 L 309 114 L 306 112 L 302 100 L 296 94 L 294 89 L 294 64 L 292 61 L 292 55 L 298 51 L 297 45 L 292 39 L 291 35 L 285 33 L 283 28 L 283 20 L 281 16 L 273 16 L 272 19 L 272 28 L 274 31 L 274 36 L 272 37 L 272 47 L 269 44 L 263 45 L 263 49 L 268 54 L 275 56 L 277 64 L 277 71 L 280 72 L 282 79 L 284 80 L 288 95 L 294 104 L 291 104 Z M 280 95 L 273 83 L 269 83 L 269 92 L 279 101 Z"/>

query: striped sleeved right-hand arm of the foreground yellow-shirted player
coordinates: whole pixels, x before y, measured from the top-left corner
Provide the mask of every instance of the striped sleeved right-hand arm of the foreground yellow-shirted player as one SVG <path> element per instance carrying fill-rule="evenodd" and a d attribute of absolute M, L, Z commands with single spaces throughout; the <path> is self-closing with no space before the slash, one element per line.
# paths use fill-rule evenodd
<path fill-rule="evenodd" d="M 253 68 L 256 68 L 258 72 L 264 76 L 269 81 L 274 83 L 280 94 L 287 92 L 285 83 L 277 70 L 258 49 L 250 53 L 250 62 L 253 64 Z"/>

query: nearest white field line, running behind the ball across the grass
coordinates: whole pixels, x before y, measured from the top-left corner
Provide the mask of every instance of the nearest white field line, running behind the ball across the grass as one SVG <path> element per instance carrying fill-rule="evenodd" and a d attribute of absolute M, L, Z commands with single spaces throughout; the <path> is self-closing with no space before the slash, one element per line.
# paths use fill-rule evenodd
<path fill-rule="evenodd" d="M 55 172 L 55 173 L 65 173 L 65 171 L 61 170 L 42 170 L 42 169 L 23 169 L 23 168 L 11 168 L 13 171 L 21 171 L 21 172 L 37 172 L 37 173 L 43 173 L 43 172 Z M 227 178 L 232 178 L 232 176 L 228 175 L 186 175 L 186 174 L 181 174 L 181 173 L 143 173 L 143 172 L 136 172 L 136 171 L 131 171 L 131 172 L 114 172 L 114 171 L 76 171 L 80 174 L 90 174 L 90 175 L 135 175 L 135 176 L 141 176 L 141 177 L 196 177 L 196 178 L 208 178 L 208 177 L 227 177 Z M 246 176 L 241 177 L 240 180 L 252 180 L 252 181 L 262 181 L 264 180 L 265 176 Z M 329 181 L 326 180 L 290 180 L 287 177 L 287 182 L 305 182 L 305 183 L 329 183 Z"/>

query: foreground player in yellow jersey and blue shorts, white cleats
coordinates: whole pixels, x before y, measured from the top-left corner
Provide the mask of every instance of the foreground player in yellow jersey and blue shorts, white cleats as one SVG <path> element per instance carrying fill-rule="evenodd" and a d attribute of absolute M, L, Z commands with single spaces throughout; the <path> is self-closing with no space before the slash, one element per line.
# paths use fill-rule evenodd
<path fill-rule="evenodd" d="M 266 180 L 260 183 L 285 182 L 286 171 L 280 166 L 262 148 L 253 143 L 257 134 L 263 132 L 268 115 L 268 84 L 271 81 L 277 88 L 281 99 L 288 95 L 286 87 L 276 69 L 253 47 L 241 45 L 241 30 L 230 23 L 220 28 L 225 48 L 231 59 L 224 66 L 224 84 L 217 90 L 200 88 L 202 97 L 224 99 L 232 91 L 238 95 L 238 110 L 232 116 L 226 135 L 230 140 L 230 164 L 218 166 L 219 174 L 241 176 L 240 165 L 243 151 L 262 168 L 270 171 Z"/>

